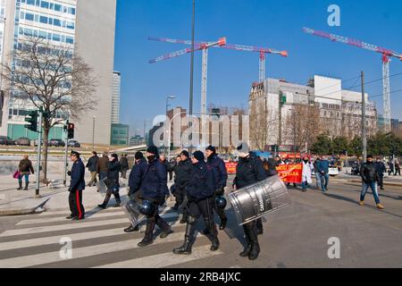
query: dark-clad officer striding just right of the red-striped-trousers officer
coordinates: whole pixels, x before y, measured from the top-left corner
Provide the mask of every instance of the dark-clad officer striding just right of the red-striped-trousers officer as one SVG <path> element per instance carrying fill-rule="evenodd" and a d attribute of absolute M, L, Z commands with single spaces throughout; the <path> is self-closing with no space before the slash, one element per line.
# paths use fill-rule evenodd
<path fill-rule="evenodd" d="M 104 203 L 101 205 L 97 205 L 100 208 L 105 209 L 107 204 L 109 203 L 112 194 L 116 199 L 116 202 L 113 207 L 119 207 L 121 205 L 121 198 L 120 198 L 120 182 L 119 182 L 119 173 L 121 172 L 121 164 L 119 162 L 119 157 L 117 154 L 112 154 L 110 157 L 109 168 L 107 170 L 107 179 L 106 179 L 106 196 Z"/>

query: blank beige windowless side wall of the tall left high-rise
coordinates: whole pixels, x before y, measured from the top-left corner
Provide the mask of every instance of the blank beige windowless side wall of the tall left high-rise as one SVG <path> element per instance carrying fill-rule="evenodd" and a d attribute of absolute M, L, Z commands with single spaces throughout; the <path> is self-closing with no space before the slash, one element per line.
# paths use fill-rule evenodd
<path fill-rule="evenodd" d="M 96 116 L 95 143 L 110 144 L 115 21 L 116 0 L 78 0 L 76 51 L 98 77 L 94 95 L 98 105 L 83 118 L 74 120 L 76 139 L 80 143 L 92 143 L 93 117 Z"/>

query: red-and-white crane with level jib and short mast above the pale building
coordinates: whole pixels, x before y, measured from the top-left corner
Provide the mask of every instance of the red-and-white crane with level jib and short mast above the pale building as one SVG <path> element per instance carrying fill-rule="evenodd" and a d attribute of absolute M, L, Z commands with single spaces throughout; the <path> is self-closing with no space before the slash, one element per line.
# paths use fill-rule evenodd
<path fill-rule="evenodd" d="M 157 41 L 157 42 L 191 45 L 191 41 L 186 40 L 186 39 L 155 38 L 155 37 L 149 37 L 148 39 L 151 41 Z M 202 45 L 209 44 L 209 43 L 208 42 L 196 42 L 195 44 L 197 46 L 202 46 Z M 269 47 L 233 45 L 233 44 L 226 44 L 224 46 L 214 46 L 214 47 L 222 47 L 222 48 L 228 48 L 228 49 L 237 50 L 237 51 L 258 53 L 259 54 L 259 82 L 263 82 L 266 79 L 266 77 L 265 77 L 265 66 L 266 66 L 265 57 L 266 56 L 265 55 L 272 54 L 272 55 L 281 55 L 284 57 L 288 57 L 287 51 L 278 51 L 278 50 L 275 50 L 275 49 L 269 48 Z M 180 52 L 183 52 L 183 51 L 180 51 Z M 185 54 L 187 54 L 187 53 L 185 53 Z"/>

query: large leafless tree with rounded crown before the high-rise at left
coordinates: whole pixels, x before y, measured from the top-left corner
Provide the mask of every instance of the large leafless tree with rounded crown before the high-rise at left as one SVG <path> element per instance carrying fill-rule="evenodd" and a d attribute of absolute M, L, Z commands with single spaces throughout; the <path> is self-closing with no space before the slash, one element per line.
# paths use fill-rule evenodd
<path fill-rule="evenodd" d="M 43 121 L 43 180 L 46 181 L 49 130 L 69 117 L 79 118 L 96 105 L 92 97 L 96 76 L 71 45 L 54 46 L 46 39 L 27 37 L 8 55 L 3 79 L 9 95 L 29 100 L 47 114 Z"/>

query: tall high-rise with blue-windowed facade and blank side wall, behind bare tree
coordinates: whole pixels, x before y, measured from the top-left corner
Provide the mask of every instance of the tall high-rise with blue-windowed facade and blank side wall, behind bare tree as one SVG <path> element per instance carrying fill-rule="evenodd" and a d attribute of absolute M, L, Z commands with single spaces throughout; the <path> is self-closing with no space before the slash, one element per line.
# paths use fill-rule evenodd
<path fill-rule="evenodd" d="M 95 142 L 109 144 L 116 0 L 0 0 L 0 13 L 3 12 L 0 41 L 4 61 L 12 61 L 7 55 L 21 44 L 23 37 L 33 36 L 50 40 L 54 46 L 69 46 L 93 69 L 98 76 L 94 94 L 98 104 L 83 118 L 70 121 L 76 124 L 75 139 L 90 143 L 93 121 L 88 118 L 95 117 Z M 3 89 L 3 80 L 1 85 Z M 24 128 L 26 111 L 36 109 L 29 100 L 6 95 L 2 107 L 1 135 L 35 138 L 35 133 Z M 63 139 L 63 126 L 54 126 L 49 137 Z"/>

